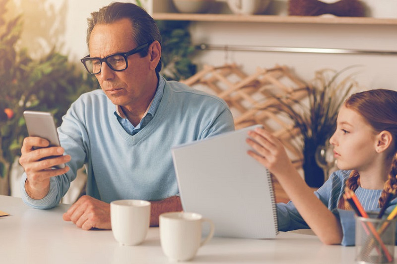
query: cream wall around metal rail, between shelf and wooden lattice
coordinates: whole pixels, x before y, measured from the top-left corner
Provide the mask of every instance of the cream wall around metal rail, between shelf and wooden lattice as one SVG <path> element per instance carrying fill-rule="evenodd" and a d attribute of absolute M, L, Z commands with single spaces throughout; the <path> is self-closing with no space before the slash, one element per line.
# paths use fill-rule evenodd
<path fill-rule="evenodd" d="M 270 47 L 304 47 L 397 51 L 397 26 L 279 24 L 279 23 L 209 23 L 192 25 L 195 43 Z M 309 80 L 322 68 L 341 70 L 350 65 L 357 68 L 359 82 L 368 88 L 397 90 L 397 55 L 319 54 L 279 52 L 202 51 L 199 63 L 219 65 L 236 62 L 248 73 L 256 67 L 275 64 L 293 68 L 298 76 Z"/>

